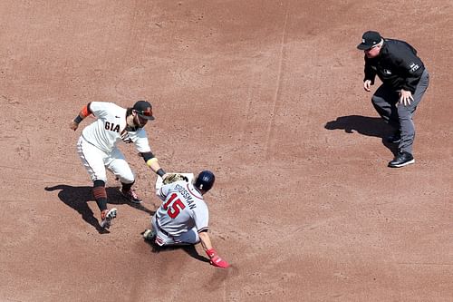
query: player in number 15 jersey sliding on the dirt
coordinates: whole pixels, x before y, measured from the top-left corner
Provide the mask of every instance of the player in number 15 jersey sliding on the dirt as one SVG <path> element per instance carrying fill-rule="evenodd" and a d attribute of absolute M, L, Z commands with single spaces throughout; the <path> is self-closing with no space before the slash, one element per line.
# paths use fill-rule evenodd
<path fill-rule="evenodd" d="M 145 230 L 143 238 L 154 240 L 159 246 L 201 242 L 213 266 L 228 268 L 229 264 L 217 255 L 207 235 L 209 214 L 203 195 L 215 180 L 211 171 L 204 170 L 194 184 L 178 180 L 163 185 L 158 192 L 163 203 L 152 216 L 151 229 Z"/>

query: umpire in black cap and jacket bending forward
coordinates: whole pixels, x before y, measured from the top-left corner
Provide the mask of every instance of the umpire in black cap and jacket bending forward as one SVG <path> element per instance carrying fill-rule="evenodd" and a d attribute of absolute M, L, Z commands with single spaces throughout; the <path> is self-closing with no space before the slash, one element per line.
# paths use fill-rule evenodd
<path fill-rule="evenodd" d="M 363 88 L 370 92 L 376 75 L 381 79 L 371 102 L 382 119 L 395 129 L 387 141 L 399 143 L 398 154 L 389 167 L 414 163 L 412 116 L 428 88 L 429 73 L 417 51 L 404 41 L 382 38 L 378 32 L 369 31 L 362 35 L 357 48 L 365 53 Z"/>

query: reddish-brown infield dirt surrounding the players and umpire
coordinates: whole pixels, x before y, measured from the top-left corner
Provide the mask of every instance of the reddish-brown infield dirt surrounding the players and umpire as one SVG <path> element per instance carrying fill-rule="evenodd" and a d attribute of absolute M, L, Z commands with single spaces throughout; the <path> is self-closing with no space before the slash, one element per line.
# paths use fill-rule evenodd
<path fill-rule="evenodd" d="M 452 301 L 451 1 L 3 0 L 0 13 L 0 301 Z M 387 168 L 390 130 L 361 85 L 370 29 L 414 45 L 431 75 L 403 169 Z M 69 122 L 87 102 L 140 99 L 166 170 L 216 172 L 211 238 L 232 268 L 140 238 L 159 201 L 129 145 L 145 201 L 122 200 L 110 175 L 119 217 L 101 231 Z"/>

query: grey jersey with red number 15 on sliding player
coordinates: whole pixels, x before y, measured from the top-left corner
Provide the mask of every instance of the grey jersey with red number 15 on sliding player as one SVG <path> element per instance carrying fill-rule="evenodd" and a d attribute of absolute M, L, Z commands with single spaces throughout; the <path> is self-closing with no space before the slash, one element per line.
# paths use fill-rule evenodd
<path fill-rule="evenodd" d="M 175 237 L 190 229 L 207 230 L 207 205 L 192 183 L 181 180 L 164 185 L 159 190 L 159 198 L 163 200 L 155 214 L 159 229 Z"/>

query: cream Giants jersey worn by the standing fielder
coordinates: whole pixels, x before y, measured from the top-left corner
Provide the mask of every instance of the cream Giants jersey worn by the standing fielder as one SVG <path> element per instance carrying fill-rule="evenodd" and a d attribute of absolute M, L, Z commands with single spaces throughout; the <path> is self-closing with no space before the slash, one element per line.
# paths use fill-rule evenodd
<path fill-rule="evenodd" d="M 110 154 L 118 141 L 133 142 L 139 152 L 149 152 L 149 141 L 143 128 L 126 131 L 126 109 L 112 102 L 91 102 L 90 111 L 97 118 L 83 129 L 82 137 L 101 151 Z"/>

